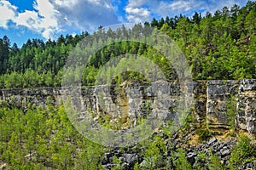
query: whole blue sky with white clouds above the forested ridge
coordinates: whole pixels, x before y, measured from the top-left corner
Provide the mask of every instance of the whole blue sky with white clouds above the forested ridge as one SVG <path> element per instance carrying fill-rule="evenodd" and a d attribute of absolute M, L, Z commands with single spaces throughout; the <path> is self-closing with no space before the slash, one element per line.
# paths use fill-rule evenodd
<path fill-rule="evenodd" d="M 0 38 L 19 46 L 28 38 L 95 31 L 98 26 L 138 23 L 166 16 L 214 13 L 247 0 L 0 0 Z"/>

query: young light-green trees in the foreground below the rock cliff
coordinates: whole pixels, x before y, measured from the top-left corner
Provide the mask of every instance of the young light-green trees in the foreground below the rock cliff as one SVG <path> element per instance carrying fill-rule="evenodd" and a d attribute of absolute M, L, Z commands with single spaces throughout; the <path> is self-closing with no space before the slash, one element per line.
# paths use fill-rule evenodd
<path fill-rule="evenodd" d="M 189 120 L 190 119 L 190 120 Z M 181 133 L 189 132 L 186 122 Z M 107 124 L 110 126 L 110 124 Z M 76 131 L 68 120 L 63 105 L 47 105 L 24 111 L 0 108 L 0 168 L 2 169 L 108 169 L 108 155 L 112 150 L 111 169 L 238 169 L 255 161 L 256 145 L 245 134 L 238 138 L 229 165 L 224 163 L 213 151 L 199 152 L 198 159 L 191 163 L 182 147 L 170 144 L 172 122 L 160 127 L 154 133 L 131 148 L 107 148 L 91 142 Z M 199 142 L 209 139 L 207 130 L 199 128 Z M 183 139 L 182 139 L 183 140 Z M 136 153 L 140 158 L 129 167 L 119 153 Z M 142 159 L 143 158 L 143 159 Z M 143 163 L 142 163 L 143 161 Z M 126 167 L 125 167 L 126 166 Z"/>

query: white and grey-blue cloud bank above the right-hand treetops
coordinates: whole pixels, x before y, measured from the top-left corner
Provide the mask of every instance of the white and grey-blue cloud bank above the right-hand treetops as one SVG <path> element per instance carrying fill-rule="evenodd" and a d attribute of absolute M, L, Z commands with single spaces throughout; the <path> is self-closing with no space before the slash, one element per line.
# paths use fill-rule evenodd
<path fill-rule="evenodd" d="M 207 11 L 212 14 L 224 8 L 224 6 L 231 7 L 235 3 L 243 6 L 247 0 L 129 0 L 125 7 L 126 19 L 129 21 L 151 20 L 152 15 L 165 18 L 166 16 L 174 17 L 179 14 L 193 14 L 195 11 Z M 139 12 L 137 12 L 139 10 Z M 147 11 L 150 16 L 145 17 L 143 12 Z"/>

